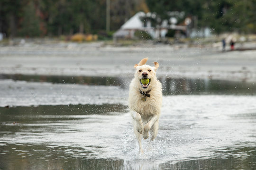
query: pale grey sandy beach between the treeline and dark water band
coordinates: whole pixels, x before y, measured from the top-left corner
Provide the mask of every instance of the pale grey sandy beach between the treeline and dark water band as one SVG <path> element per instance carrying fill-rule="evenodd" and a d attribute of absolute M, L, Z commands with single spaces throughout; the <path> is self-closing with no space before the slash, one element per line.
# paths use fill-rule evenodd
<path fill-rule="evenodd" d="M 251 47 L 255 43 L 242 45 Z M 160 63 L 158 76 L 256 81 L 255 50 L 222 52 L 220 47 L 212 46 L 145 43 L 115 47 L 104 42 L 26 42 L 0 46 L 0 74 L 130 76 L 133 65 L 148 57 L 148 64 Z"/>

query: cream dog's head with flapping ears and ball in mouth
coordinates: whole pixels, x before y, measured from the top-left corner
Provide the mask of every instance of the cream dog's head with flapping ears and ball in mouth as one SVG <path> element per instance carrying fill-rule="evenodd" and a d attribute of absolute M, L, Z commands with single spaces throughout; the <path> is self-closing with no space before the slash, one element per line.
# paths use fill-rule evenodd
<path fill-rule="evenodd" d="M 146 65 L 147 58 L 142 59 L 138 64 L 134 65 L 136 69 L 135 79 L 137 79 L 138 85 L 141 86 L 142 89 L 151 88 L 156 81 L 155 71 L 159 67 L 158 62 L 154 62 L 155 66 Z M 141 83 L 141 79 L 149 79 L 148 84 L 144 85 Z"/>

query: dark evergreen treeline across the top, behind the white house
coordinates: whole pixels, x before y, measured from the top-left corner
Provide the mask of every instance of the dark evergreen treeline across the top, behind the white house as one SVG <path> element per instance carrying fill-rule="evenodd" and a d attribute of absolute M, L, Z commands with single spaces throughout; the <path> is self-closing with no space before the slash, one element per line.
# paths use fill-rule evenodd
<path fill-rule="evenodd" d="M 256 33 L 256 0 L 110 0 L 110 30 L 138 11 L 184 11 L 198 27 L 219 34 Z M 0 33 L 7 36 L 59 36 L 106 33 L 106 0 L 0 0 Z"/>

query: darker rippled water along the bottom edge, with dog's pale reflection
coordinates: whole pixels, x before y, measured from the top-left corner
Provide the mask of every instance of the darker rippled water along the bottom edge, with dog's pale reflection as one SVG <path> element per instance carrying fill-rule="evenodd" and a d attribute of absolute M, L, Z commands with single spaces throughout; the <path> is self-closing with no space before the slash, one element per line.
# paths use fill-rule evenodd
<path fill-rule="evenodd" d="M 227 148 L 219 157 L 159 162 L 88 159 L 82 148 L 51 145 L 2 144 L 0 170 L 255 170 L 256 147 Z M 217 151 L 216 153 L 219 153 Z M 9 161 L 15 160 L 15 161 Z"/>

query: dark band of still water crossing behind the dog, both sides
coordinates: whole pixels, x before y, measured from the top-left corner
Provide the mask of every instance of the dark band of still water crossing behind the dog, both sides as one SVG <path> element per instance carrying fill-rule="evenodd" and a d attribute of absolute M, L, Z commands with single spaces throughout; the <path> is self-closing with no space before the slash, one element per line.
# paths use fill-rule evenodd
<path fill-rule="evenodd" d="M 0 75 L 0 79 L 59 84 L 115 85 L 128 89 L 132 77 Z M 206 79 L 159 77 L 164 95 L 173 94 L 256 94 L 256 83 Z"/>

